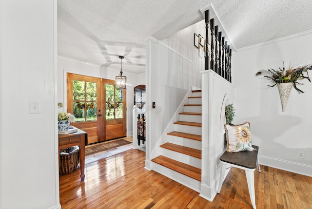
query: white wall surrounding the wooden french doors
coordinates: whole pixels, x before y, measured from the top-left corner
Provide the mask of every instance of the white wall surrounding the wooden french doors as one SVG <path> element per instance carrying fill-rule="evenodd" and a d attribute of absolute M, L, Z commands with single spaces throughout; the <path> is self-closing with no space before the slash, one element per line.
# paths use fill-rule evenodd
<path fill-rule="evenodd" d="M 63 108 L 59 108 L 59 112 L 66 112 L 66 73 L 74 73 L 84 76 L 93 76 L 105 79 L 115 80 L 115 76 L 119 75 L 120 70 L 112 68 L 104 68 L 99 65 L 88 64 L 78 60 L 66 57 L 58 57 L 58 102 L 63 103 Z M 132 109 L 134 105 L 133 88 L 137 84 L 137 75 L 123 73 L 127 76 L 127 136 L 132 136 Z M 142 77 L 142 76 L 141 76 Z M 144 77 L 144 75 L 143 75 Z M 145 83 L 140 83 L 145 84 Z"/>

